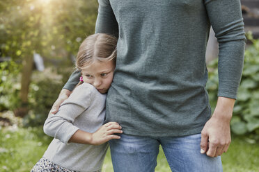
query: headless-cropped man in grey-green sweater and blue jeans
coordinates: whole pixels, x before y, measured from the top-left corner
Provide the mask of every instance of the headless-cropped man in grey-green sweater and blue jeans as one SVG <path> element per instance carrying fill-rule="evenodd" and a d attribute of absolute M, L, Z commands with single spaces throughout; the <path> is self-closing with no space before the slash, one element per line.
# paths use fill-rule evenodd
<path fill-rule="evenodd" d="M 205 85 L 210 25 L 219 42 L 219 93 L 212 117 Z M 155 171 L 162 145 L 172 171 L 222 171 L 244 61 L 239 0 L 99 0 L 96 33 L 118 35 L 107 121 L 114 171 Z M 54 104 L 77 83 L 74 72 Z M 69 91 L 70 90 L 70 91 Z"/>

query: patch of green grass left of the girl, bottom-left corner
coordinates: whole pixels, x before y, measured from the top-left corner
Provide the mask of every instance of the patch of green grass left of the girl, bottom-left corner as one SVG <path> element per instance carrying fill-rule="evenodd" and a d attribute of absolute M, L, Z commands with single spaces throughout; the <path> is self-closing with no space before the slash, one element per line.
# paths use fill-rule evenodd
<path fill-rule="evenodd" d="M 42 132 L 42 128 L 2 128 L 0 171 L 30 171 L 42 157 L 50 140 Z"/>

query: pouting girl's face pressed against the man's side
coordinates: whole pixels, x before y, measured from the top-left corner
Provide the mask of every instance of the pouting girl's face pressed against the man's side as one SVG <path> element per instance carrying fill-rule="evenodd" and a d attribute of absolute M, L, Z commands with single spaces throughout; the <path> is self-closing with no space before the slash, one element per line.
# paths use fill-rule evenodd
<path fill-rule="evenodd" d="M 108 62 L 95 60 L 91 65 L 85 65 L 81 72 L 84 83 L 93 85 L 98 92 L 104 94 L 111 87 L 114 69 L 115 62 L 113 60 Z"/>

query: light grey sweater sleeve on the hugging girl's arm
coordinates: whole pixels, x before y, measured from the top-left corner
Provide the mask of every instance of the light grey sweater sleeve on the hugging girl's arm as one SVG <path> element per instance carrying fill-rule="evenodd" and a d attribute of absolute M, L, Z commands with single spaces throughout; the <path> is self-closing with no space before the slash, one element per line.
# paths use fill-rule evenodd
<path fill-rule="evenodd" d="M 94 87 L 88 84 L 79 85 L 70 97 L 65 100 L 56 114 L 49 113 L 43 130 L 45 134 L 68 144 L 74 132 L 79 130 L 74 126 L 74 119 L 91 105 L 91 92 Z"/>

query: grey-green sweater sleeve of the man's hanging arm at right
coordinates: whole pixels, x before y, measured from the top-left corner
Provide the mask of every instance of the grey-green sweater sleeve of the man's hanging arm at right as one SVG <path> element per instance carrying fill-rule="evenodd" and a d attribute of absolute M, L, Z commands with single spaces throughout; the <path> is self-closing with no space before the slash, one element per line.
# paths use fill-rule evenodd
<path fill-rule="evenodd" d="M 219 42 L 218 96 L 236 99 L 246 41 L 240 0 L 205 0 L 205 6 Z"/>

